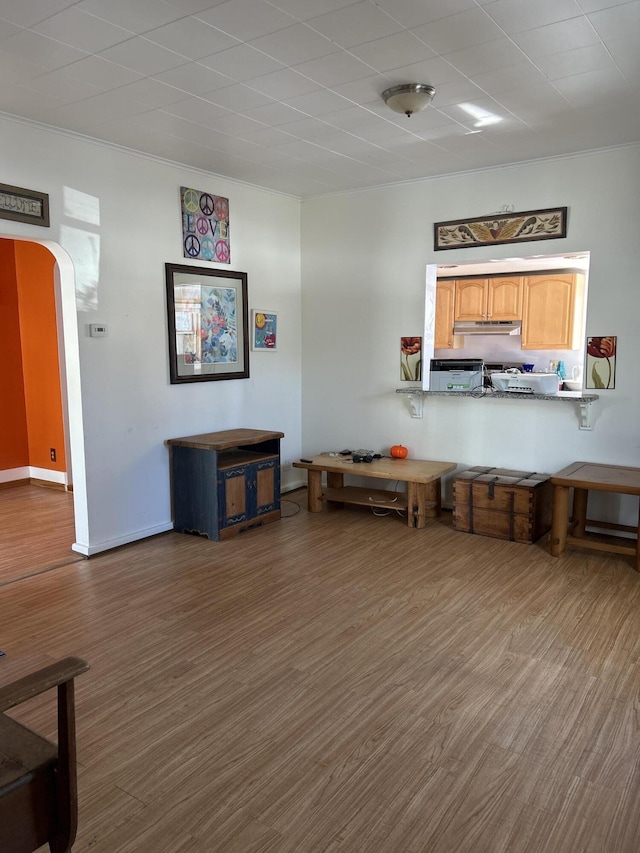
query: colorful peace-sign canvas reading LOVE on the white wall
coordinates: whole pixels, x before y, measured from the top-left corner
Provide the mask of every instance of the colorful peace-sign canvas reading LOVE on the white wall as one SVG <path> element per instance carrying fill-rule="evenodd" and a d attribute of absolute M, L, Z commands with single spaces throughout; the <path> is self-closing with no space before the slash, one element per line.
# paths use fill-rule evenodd
<path fill-rule="evenodd" d="M 180 207 L 184 257 L 230 264 L 229 199 L 180 187 Z"/>

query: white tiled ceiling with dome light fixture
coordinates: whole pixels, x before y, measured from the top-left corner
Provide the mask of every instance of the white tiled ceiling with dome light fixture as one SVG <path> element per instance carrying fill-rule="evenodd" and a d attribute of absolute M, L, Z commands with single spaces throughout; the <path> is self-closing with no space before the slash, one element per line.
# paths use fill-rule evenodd
<path fill-rule="evenodd" d="M 0 0 L 0 110 L 305 197 L 637 142 L 639 36 L 640 0 Z"/>

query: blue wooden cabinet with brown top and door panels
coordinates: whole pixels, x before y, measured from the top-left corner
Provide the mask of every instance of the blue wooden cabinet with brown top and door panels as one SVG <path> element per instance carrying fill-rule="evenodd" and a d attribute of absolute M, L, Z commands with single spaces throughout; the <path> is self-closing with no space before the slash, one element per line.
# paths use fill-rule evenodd
<path fill-rule="evenodd" d="M 218 541 L 278 521 L 283 437 L 234 429 L 169 439 L 174 529 Z"/>

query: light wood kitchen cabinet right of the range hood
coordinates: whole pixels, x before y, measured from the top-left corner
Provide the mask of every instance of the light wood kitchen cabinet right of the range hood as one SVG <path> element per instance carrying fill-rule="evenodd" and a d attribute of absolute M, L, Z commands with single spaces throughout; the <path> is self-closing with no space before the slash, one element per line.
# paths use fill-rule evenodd
<path fill-rule="evenodd" d="M 524 278 L 522 349 L 580 347 L 584 276 L 544 273 Z"/>

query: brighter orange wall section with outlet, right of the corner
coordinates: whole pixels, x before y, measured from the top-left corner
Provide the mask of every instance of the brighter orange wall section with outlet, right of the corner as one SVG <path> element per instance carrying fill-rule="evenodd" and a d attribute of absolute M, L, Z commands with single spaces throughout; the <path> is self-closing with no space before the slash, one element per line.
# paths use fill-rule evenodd
<path fill-rule="evenodd" d="M 16 241 L 15 257 L 29 465 L 65 471 L 55 258 L 44 246 L 25 241 Z M 55 462 L 50 458 L 52 447 Z"/>

